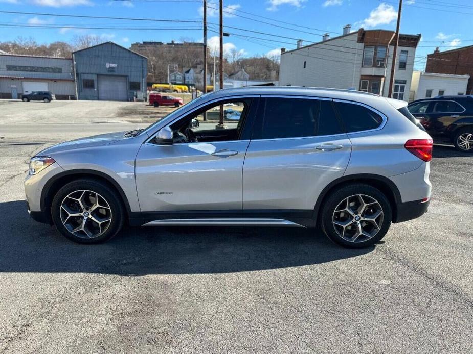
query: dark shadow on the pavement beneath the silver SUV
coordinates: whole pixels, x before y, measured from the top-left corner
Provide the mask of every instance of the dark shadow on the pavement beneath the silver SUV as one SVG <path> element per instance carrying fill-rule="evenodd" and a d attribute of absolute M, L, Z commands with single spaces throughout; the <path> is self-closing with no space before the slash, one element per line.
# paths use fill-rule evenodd
<path fill-rule="evenodd" d="M 104 244 L 79 245 L 32 220 L 24 201 L 0 203 L 0 214 L 0 273 L 227 273 L 319 264 L 374 249 L 345 249 L 321 231 L 277 227 L 125 227 Z"/>

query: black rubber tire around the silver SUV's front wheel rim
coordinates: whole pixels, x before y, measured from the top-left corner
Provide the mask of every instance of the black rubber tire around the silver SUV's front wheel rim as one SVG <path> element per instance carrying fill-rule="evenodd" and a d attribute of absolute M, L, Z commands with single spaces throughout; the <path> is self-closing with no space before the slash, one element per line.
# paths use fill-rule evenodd
<path fill-rule="evenodd" d="M 70 195 L 71 193 L 81 190 L 92 191 L 100 194 L 100 196 L 105 199 L 106 203 L 108 204 L 111 213 L 111 221 L 104 226 L 106 227 L 106 230 L 102 234 L 93 238 L 86 238 L 85 235 L 82 235 L 82 237 L 80 237 L 76 234 L 73 234 L 67 229 L 66 226 L 64 226 L 61 220 L 60 213 L 62 201 L 66 198 L 66 196 Z M 108 241 L 109 239 L 114 237 L 121 230 L 124 224 L 125 215 L 126 213 L 123 207 L 122 200 L 120 198 L 120 195 L 115 191 L 115 189 L 102 182 L 89 179 L 79 179 L 67 183 L 59 189 L 59 191 L 54 196 L 53 202 L 51 204 L 51 216 L 59 232 L 66 238 L 74 242 L 83 244 L 101 243 Z M 82 220 L 82 216 L 78 218 Z"/>

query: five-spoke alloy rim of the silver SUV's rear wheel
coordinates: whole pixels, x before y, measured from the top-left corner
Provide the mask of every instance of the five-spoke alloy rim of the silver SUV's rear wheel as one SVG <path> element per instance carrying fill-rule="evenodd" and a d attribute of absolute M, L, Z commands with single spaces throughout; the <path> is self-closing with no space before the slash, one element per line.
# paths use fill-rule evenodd
<path fill-rule="evenodd" d="M 367 241 L 379 232 L 384 213 L 379 202 L 365 194 L 343 199 L 332 216 L 336 233 L 349 242 Z"/>

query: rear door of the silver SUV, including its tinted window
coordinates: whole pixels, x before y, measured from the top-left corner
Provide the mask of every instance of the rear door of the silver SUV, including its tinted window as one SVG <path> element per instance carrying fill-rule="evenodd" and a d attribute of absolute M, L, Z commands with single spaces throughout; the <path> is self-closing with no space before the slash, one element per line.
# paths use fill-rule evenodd
<path fill-rule="evenodd" d="M 350 154 L 331 99 L 262 96 L 243 166 L 243 210 L 311 213 Z"/>

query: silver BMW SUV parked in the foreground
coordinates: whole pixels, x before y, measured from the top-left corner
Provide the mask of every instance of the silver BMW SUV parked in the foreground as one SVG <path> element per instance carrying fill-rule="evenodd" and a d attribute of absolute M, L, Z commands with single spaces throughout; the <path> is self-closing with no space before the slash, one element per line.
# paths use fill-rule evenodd
<path fill-rule="evenodd" d="M 336 243 L 368 246 L 429 205 L 432 139 L 406 106 L 348 90 L 220 90 L 146 129 L 44 149 L 28 209 L 80 243 L 125 223 L 320 224 Z"/>

